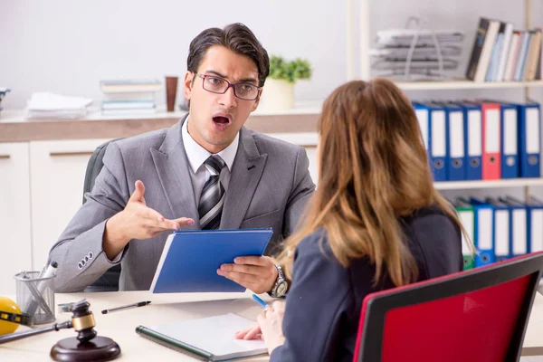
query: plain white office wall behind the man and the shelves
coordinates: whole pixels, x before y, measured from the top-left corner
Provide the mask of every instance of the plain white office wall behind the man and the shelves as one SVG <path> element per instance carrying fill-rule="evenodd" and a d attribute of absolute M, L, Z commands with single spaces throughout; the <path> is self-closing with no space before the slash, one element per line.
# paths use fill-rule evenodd
<path fill-rule="evenodd" d="M 465 70 L 481 14 L 524 25 L 520 0 L 370 3 L 372 40 L 376 30 L 401 27 L 409 15 L 424 16 L 434 28 L 464 31 L 458 74 Z M 543 5 L 533 3 L 534 25 L 541 25 Z M 3 105 L 23 108 L 38 90 L 100 100 L 100 80 L 183 75 L 190 40 L 207 27 L 233 22 L 251 27 L 270 53 L 309 59 L 314 76 L 297 85 L 296 100 L 323 100 L 346 81 L 346 9 L 347 2 L 340 0 L 0 0 L 0 86 L 13 89 Z M 503 90 L 489 96 L 494 94 Z M 426 95 L 416 92 L 413 97 Z M 164 103 L 163 93 L 158 103 Z"/>

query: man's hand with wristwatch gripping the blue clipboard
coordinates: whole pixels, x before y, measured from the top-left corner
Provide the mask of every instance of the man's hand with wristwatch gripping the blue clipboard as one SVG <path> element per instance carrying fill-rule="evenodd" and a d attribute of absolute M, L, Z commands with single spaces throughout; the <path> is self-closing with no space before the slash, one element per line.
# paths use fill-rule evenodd
<path fill-rule="evenodd" d="M 243 287 L 262 294 L 271 291 L 279 272 L 275 261 L 269 256 L 240 256 L 233 264 L 223 264 L 217 274 L 224 276 Z"/>

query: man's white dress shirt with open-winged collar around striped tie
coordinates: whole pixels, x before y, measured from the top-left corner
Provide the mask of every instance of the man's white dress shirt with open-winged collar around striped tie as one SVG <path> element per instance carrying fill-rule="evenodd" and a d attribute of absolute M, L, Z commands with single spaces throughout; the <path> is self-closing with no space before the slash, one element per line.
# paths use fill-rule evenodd
<path fill-rule="evenodd" d="M 183 145 L 185 146 L 186 158 L 188 159 L 189 169 L 188 173 L 192 180 L 193 189 L 195 191 L 196 208 L 198 208 L 200 202 L 200 194 L 204 188 L 205 182 L 209 179 L 211 174 L 204 166 L 205 160 L 212 154 L 198 145 L 196 141 L 188 134 L 188 122 L 190 121 L 190 115 L 186 118 L 183 127 L 181 128 L 181 137 L 183 138 Z M 217 153 L 217 156 L 223 158 L 226 163 L 226 167 L 221 171 L 219 180 L 224 187 L 224 191 L 228 189 L 230 182 L 230 172 L 232 171 L 233 159 L 237 153 L 238 144 L 240 143 L 240 133 L 238 132 L 233 138 L 233 141 L 227 148 L 224 148 L 221 152 Z"/>

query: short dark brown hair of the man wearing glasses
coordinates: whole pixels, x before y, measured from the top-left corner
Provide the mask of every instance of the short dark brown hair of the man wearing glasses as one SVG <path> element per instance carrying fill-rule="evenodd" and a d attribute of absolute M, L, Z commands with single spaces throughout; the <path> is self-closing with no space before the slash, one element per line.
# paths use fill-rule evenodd
<path fill-rule="evenodd" d="M 251 29 L 240 23 L 227 25 L 224 29 L 209 28 L 199 33 L 190 43 L 186 69 L 193 73 L 197 72 L 205 52 L 213 45 L 224 46 L 232 52 L 251 58 L 258 69 L 258 86 L 264 85 L 270 73 L 268 52 L 256 39 Z"/>

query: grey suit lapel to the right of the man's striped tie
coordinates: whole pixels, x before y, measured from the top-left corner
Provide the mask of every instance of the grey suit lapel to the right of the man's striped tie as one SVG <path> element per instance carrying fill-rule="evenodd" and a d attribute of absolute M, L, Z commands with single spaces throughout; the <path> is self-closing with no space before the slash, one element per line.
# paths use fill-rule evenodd
<path fill-rule="evenodd" d="M 238 229 L 247 213 L 268 155 L 261 155 L 252 135 L 240 130 L 240 144 L 233 161 L 230 182 L 224 199 L 221 229 Z"/>

